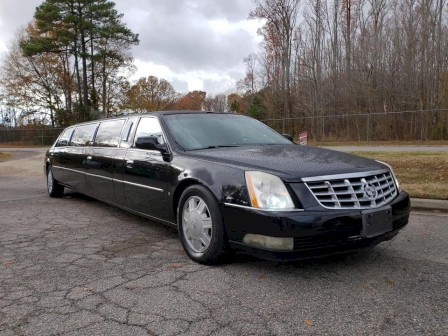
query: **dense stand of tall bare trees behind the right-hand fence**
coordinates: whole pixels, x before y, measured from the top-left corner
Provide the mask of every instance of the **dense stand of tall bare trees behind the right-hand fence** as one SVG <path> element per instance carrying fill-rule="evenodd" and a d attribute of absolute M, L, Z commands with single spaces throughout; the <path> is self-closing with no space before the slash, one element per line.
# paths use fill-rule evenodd
<path fill-rule="evenodd" d="M 446 0 L 254 0 L 249 17 L 265 20 L 239 83 L 256 116 L 360 139 L 365 113 L 380 139 L 448 139 Z"/>

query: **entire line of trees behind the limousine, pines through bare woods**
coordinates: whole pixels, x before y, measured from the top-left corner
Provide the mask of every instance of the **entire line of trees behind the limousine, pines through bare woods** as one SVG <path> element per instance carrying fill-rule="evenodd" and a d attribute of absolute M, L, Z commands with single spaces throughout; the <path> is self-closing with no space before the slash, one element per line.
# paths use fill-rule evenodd
<path fill-rule="evenodd" d="M 235 92 L 210 97 L 154 76 L 129 82 L 139 37 L 113 2 L 46 0 L 1 65 L 0 118 L 65 126 L 206 109 L 315 139 L 448 139 L 446 0 L 253 0 L 249 18 L 264 20 L 263 42 Z"/>

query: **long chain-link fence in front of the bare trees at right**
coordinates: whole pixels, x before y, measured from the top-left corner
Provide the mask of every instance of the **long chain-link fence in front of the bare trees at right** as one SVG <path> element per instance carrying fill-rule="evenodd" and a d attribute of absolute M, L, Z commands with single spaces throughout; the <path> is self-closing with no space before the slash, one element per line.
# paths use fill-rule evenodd
<path fill-rule="evenodd" d="M 448 110 L 341 113 L 262 120 L 298 140 L 306 131 L 315 142 L 448 140 Z"/>

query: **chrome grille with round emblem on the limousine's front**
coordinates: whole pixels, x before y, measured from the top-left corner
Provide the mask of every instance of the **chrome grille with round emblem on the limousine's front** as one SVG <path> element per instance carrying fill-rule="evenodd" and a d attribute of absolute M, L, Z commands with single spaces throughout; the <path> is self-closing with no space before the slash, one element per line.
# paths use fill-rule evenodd
<path fill-rule="evenodd" d="M 397 195 L 389 171 L 304 178 L 316 200 L 329 209 L 370 209 L 388 204 Z"/>

